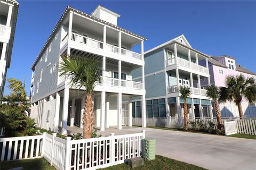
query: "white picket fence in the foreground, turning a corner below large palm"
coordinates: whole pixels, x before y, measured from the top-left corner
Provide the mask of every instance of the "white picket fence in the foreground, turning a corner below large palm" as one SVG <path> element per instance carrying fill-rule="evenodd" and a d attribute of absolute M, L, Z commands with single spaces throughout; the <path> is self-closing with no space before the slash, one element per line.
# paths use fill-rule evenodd
<path fill-rule="evenodd" d="M 141 133 L 71 140 L 56 133 L 0 138 L 1 161 L 44 157 L 56 169 L 97 169 L 140 157 L 145 130 Z"/>

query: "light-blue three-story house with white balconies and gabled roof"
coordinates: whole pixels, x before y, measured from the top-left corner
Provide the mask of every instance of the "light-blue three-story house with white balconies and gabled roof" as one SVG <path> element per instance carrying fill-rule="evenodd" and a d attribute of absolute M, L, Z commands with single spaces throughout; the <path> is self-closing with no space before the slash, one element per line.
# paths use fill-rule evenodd
<path fill-rule="evenodd" d="M 189 118 L 213 117 L 211 100 L 201 87 L 202 80 L 210 84 L 209 56 L 192 48 L 183 35 L 148 50 L 144 55 L 148 118 L 183 118 L 184 101 L 179 94 L 180 86 L 190 87 L 187 98 Z M 206 63 L 206 66 L 200 63 Z M 141 79 L 139 71 L 133 71 L 132 75 L 134 80 Z M 139 116 L 135 113 L 133 117 Z"/>

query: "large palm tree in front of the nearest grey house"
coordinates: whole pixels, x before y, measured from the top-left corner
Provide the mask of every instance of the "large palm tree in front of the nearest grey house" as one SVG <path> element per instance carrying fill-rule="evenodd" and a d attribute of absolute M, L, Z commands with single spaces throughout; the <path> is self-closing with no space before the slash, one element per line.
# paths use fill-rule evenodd
<path fill-rule="evenodd" d="M 76 89 L 85 88 L 86 100 L 83 113 L 83 138 L 91 138 L 93 126 L 92 95 L 95 82 L 100 79 L 99 64 L 82 56 L 64 57 L 59 66 L 60 75 L 66 75 L 70 86 Z"/>

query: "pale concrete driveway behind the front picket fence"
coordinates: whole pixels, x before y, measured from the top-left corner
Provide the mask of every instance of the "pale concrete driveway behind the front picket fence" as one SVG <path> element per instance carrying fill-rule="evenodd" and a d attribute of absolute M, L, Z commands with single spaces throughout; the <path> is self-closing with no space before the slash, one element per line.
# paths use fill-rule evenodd
<path fill-rule="evenodd" d="M 98 131 L 128 134 L 146 130 L 146 137 L 156 139 L 156 154 L 206 169 L 256 169 L 256 140 L 223 137 L 151 128 L 109 128 Z"/>

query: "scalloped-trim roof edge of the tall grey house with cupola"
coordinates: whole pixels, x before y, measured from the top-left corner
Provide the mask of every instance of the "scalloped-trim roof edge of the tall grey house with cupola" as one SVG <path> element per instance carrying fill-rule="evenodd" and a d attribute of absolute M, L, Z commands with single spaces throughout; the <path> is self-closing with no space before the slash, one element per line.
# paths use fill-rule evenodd
<path fill-rule="evenodd" d="M 137 34 L 131 32 L 131 31 L 128 31 L 128 30 L 126 30 L 126 29 L 123 29 L 123 28 L 121 28 L 121 27 L 118 27 L 117 25 L 114 25 L 114 24 L 109 23 L 109 22 L 107 22 L 107 21 L 103 21 L 103 20 L 101 20 L 101 19 L 99 19 L 99 18 L 96 18 L 95 16 L 86 14 L 86 13 L 84 13 L 84 12 L 82 12 L 82 11 L 76 10 L 76 9 L 73 8 L 73 7 L 67 6 L 66 9 L 65 9 L 65 11 L 64 11 L 64 12 L 62 13 L 62 15 L 60 16 L 59 21 L 58 21 L 57 24 L 55 25 L 54 29 L 52 30 L 51 35 L 50 35 L 49 38 L 46 40 L 46 43 L 44 44 L 44 46 L 43 46 L 41 52 L 38 54 L 38 56 L 37 56 L 35 62 L 33 63 L 33 65 L 31 66 L 30 69 L 33 69 L 33 68 L 34 68 L 34 66 L 35 66 L 35 64 L 37 63 L 39 57 L 40 57 L 40 56 L 42 55 L 42 53 L 45 51 L 45 48 L 49 45 L 50 40 L 54 37 L 55 33 L 56 33 L 57 30 L 59 29 L 59 27 L 60 27 L 60 25 L 62 24 L 62 22 L 66 19 L 66 16 L 69 14 L 70 11 L 73 11 L 74 13 L 79 13 L 79 15 L 82 15 L 82 16 L 84 16 L 85 18 L 89 18 L 90 20 L 93 20 L 93 21 L 98 22 L 98 23 L 101 23 L 101 24 L 105 24 L 107 27 L 117 29 L 117 30 L 119 30 L 119 31 L 121 31 L 121 32 L 125 32 L 125 33 L 127 33 L 127 34 L 129 34 L 129 35 L 131 35 L 131 36 L 137 37 L 138 39 L 147 40 L 146 37 L 139 36 L 139 35 L 137 35 Z"/>

